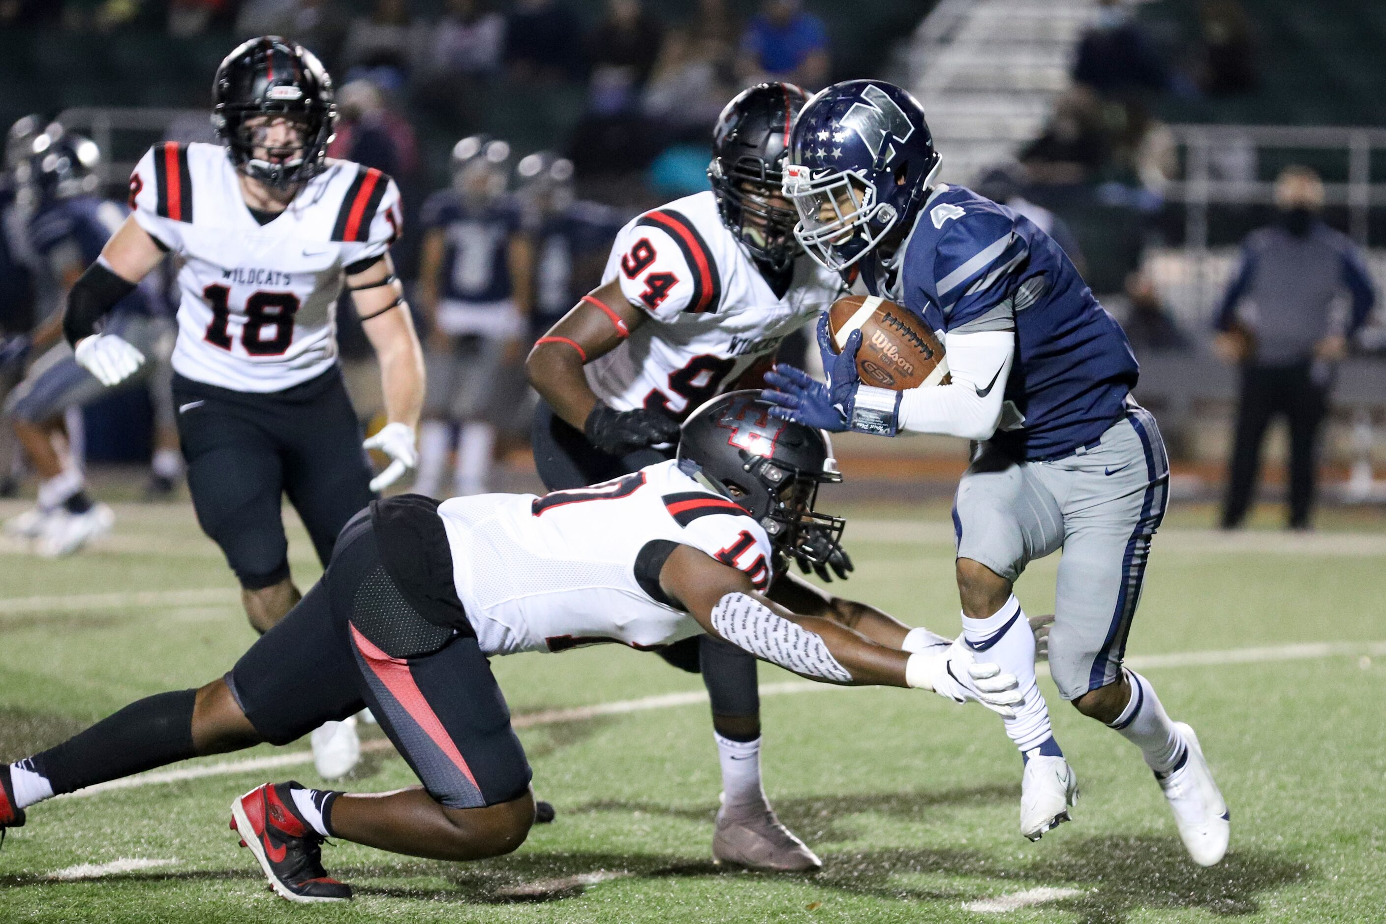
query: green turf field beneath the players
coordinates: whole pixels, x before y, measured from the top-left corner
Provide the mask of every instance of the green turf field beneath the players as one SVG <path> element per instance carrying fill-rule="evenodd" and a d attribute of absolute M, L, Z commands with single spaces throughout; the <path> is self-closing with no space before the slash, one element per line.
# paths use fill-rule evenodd
<path fill-rule="evenodd" d="M 67 561 L 0 546 L 0 759 L 204 683 L 254 639 L 188 507 L 118 514 L 115 536 Z M 701 690 L 658 658 L 606 647 L 495 662 L 528 723 L 535 787 L 559 808 L 513 856 L 448 864 L 341 844 L 324 862 L 356 887 L 351 906 L 273 898 L 227 806 L 265 780 L 316 784 L 305 741 L 33 808 L 0 851 L 0 921 L 1383 920 L 1386 532 L 1351 514 L 1311 536 L 1227 537 L 1202 529 L 1207 519 L 1174 511 L 1156 539 L 1130 654 L 1199 730 L 1231 805 L 1232 849 L 1213 870 L 1185 859 L 1137 751 L 1048 680 L 1082 801 L 1073 824 L 1028 844 L 1020 759 L 995 716 L 918 691 L 805 688 L 764 666 L 766 785 L 825 869 L 722 871 L 710 862 L 718 776 L 704 704 L 553 713 Z M 945 507 L 863 510 L 847 537 L 854 596 L 956 630 Z M 316 565 L 295 539 L 306 583 Z M 1020 585 L 1031 612 L 1052 605 L 1053 565 Z M 225 766 L 274 755 L 291 763 Z M 377 747 L 349 788 L 410 783 Z"/>

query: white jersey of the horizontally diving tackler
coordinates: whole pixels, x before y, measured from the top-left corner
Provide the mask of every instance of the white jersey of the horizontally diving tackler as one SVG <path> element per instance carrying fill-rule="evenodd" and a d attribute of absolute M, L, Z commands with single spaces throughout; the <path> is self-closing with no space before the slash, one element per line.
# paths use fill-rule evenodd
<path fill-rule="evenodd" d="M 761 590 L 772 576 L 765 529 L 678 460 L 543 497 L 453 497 L 438 515 L 457 597 L 488 655 L 599 641 L 643 650 L 699 634 L 660 590 L 668 543 L 747 572 Z"/>

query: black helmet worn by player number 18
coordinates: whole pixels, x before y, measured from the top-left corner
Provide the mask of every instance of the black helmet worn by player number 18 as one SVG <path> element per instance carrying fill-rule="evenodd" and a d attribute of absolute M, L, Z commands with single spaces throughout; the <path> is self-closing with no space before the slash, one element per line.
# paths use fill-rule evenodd
<path fill-rule="evenodd" d="M 258 159 L 254 132 L 258 115 L 292 118 L 302 127 L 302 147 L 273 150 L 284 159 Z M 288 39 L 261 36 L 231 51 L 212 82 L 212 127 L 241 173 L 276 190 L 306 183 L 327 161 L 327 143 L 337 125 L 333 79 L 317 57 Z"/>

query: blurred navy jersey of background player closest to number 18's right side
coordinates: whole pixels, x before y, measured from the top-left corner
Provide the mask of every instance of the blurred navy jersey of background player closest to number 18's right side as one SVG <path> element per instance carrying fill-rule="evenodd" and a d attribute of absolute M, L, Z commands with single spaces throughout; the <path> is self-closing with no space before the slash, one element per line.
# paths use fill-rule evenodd
<path fill-rule="evenodd" d="M 457 302 L 500 302 L 510 298 L 509 247 L 520 227 L 520 213 L 509 199 L 482 209 L 468 208 L 455 190 L 439 190 L 424 201 L 424 230 L 442 229 L 444 255 L 439 294 Z"/>

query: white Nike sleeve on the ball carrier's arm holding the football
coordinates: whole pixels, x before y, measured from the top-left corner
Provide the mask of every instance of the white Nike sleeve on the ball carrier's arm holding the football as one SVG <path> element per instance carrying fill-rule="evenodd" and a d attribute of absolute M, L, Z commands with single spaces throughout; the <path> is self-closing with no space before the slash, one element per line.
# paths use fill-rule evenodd
<path fill-rule="evenodd" d="M 963 439 L 991 439 L 1001 423 L 1016 355 L 1009 331 L 945 334 L 949 385 L 911 388 L 900 399 L 900 428 Z"/>

